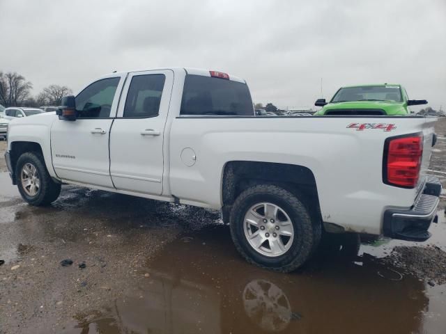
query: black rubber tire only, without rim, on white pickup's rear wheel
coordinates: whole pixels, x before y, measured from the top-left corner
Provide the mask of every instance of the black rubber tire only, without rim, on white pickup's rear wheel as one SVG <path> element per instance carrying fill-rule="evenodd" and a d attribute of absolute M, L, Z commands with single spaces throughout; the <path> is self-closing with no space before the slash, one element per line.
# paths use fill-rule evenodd
<path fill-rule="evenodd" d="M 270 257 L 259 253 L 245 237 L 245 214 L 256 203 L 270 202 L 288 214 L 293 224 L 293 242 L 282 255 Z M 316 227 L 314 226 L 316 224 Z M 247 262 L 280 272 L 290 272 L 305 264 L 320 239 L 321 225 L 312 221 L 309 210 L 293 193 L 272 184 L 259 184 L 240 193 L 231 210 L 231 236 Z"/>

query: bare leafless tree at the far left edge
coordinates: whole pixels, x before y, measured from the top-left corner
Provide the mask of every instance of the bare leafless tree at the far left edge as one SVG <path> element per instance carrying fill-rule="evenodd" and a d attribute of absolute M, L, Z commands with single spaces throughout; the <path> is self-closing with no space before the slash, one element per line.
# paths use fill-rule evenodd
<path fill-rule="evenodd" d="M 0 72 L 0 104 L 20 106 L 29 97 L 33 84 L 16 72 Z"/>

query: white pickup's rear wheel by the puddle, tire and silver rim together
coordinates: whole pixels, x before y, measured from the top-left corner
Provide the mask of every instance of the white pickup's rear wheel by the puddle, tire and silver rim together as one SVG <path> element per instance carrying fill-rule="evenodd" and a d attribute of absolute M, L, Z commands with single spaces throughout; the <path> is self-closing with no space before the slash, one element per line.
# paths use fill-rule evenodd
<path fill-rule="evenodd" d="M 293 193 L 270 184 L 240 193 L 230 225 L 240 254 L 252 264 L 275 271 L 298 269 L 318 241 L 305 205 Z"/>

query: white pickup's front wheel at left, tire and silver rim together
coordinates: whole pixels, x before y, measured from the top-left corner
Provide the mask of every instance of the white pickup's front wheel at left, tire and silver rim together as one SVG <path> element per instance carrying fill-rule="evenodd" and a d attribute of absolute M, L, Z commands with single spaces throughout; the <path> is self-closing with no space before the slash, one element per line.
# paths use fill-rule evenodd
<path fill-rule="evenodd" d="M 59 197 L 61 184 L 54 182 L 36 152 L 26 152 L 17 160 L 15 177 L 20 195 L 31 205 L 49 205 Z"/>

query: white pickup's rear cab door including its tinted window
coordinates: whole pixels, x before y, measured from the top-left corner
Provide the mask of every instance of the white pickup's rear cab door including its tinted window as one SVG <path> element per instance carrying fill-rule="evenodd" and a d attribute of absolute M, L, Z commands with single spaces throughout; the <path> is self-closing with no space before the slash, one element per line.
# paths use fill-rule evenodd
<path fill-rule="evenodd" d="M 161 195 L 163 143 L 174 72 L 128 75 L 110 136 L 110 173 L 116 189 Z"/>

